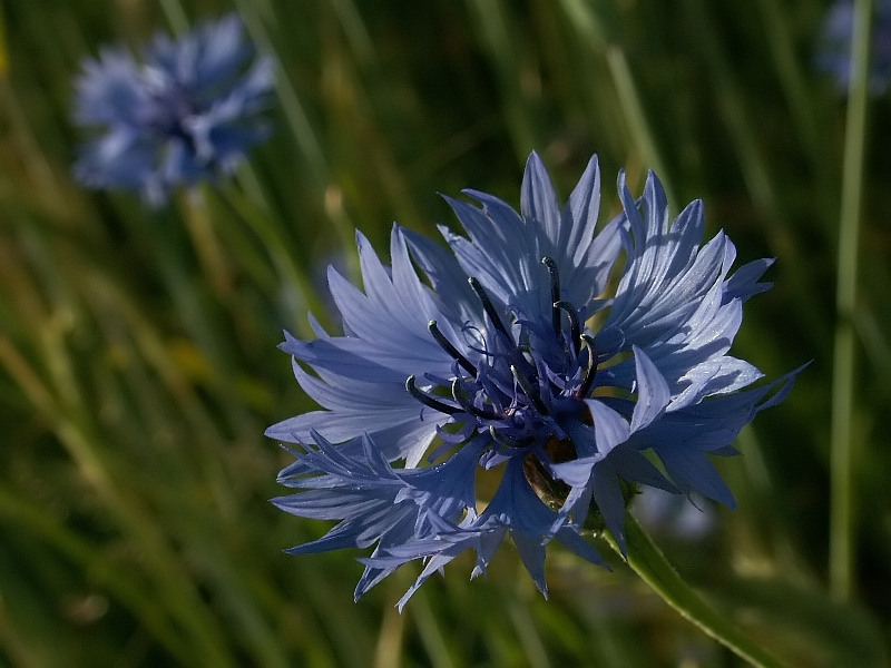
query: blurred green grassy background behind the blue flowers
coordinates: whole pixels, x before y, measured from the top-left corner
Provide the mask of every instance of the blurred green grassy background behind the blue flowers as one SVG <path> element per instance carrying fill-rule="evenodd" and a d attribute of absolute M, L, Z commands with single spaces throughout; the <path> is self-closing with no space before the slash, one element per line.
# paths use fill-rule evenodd
<path fill-rule="evenodd" d="M 562 198 L 599 154 L 674 210 L 706 203 L 747 262 L 777 258 L 734 352 L 777 375 L 813 360 L 719 462 L 740 508 L 653 534 L 682 576 L 792 666 L 878 666 L 891 627 L 889 99 L 869 100 L 859 281 L 836 321 L 848 101 L 814 71 L 826 3 L 679 0 L 3 0 L 0 75 L 0 666 L 742 665 L 615 572 L 551 549 L 549 601 L 506 544 L 458 559 L 403 615 L 403 568 L 359 603 L 358 553 L 273 509 L 291 458 L 263 436 L 307 410 L 282 330 L 336 323 L 353 229 L 453 224 L 438 193 L 519 204 L 528 153 Z M 69 166 L 72 78 L 237 10 L 281 66 L 276 131 L 222 191 L 150 210 Z M 836 328 L 855 364 L 851 474 L 830 454 Z M 336 326 L 336 325 L 335 325 Z M 844 370 L 842 370 L 844 371 Z M 845 373 L 848 373 L 845 372 Z M 834 375 L 833 375 L 834 374 Z M 835 380 L 833 380 L 835 379 Z M 884 426 L 882 426 L 884 424 Z M 834 472 L 833 472 L 833 469 Z M 851 500 L 850 531 L 830 520 Z M 841 481 L 841 482 L 839 482 Z M 830 533 L 853 556 L 829 591 Z"/>

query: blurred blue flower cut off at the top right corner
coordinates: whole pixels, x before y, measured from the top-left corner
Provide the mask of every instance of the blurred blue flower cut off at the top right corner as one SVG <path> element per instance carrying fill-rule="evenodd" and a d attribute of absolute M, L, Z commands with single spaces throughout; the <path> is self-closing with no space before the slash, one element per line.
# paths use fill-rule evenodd
<path fill-rule="evenodd" d="M 851 39 L 854 31 L 853 0 L 838 0 L 826 12 L 815 57 L 817 69 L 835 78 L 839 89 L 851 85 Z M 873 13 L 869 87 L 873 95 L 891 85 L 891 0 L 878 0 Z"/>

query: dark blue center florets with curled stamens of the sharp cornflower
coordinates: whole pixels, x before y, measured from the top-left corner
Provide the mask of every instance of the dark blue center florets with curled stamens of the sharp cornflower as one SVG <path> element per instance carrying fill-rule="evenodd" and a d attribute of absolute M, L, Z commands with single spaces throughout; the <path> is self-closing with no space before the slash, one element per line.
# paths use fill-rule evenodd
<path fill-rule="evenodd" d="M 405 387 L 420 403 L 450 415 L 458 425 L 457 433 L 442 434 L 447 443 L 466 443 L 488 432 L 491 443 L 480 464 L 488 469 L 522 456 L 529 485 L 547 505 L 559 508 L 569 488 L 550 475 L 548 465 L 577 456 L 561 424 L 568 419 L 590 423 L 584 400 L 594 384 L 597 354 L 593 337 L 581 331 L 578 310 L 561 299 L 556 264 L 548 257 L 541 263 L 550 278 L 550 318 L 529 318 L 512 310 L 508 327 L 479 281 L 470 278 L 490 325 L 487 334 L 470 324 L 463 326 L 476 362 L 430 321 L 431 336 L 454 360 L 454 376 L 425 376 L 432 384 L 427 391 L 409 376 Z"/>

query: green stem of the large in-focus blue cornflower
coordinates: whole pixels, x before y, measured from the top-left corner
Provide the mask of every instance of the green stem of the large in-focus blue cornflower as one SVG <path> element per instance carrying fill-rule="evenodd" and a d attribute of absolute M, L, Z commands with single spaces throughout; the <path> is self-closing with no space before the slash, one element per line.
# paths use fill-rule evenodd
<path fill-rule="evenodd" d="M 630 514 L 627 515 L 625 531 L 628 544 L 628 566 L 666 603 L 753 666 L 762 668 L 781 666 L 776 658 L 756 645 L 726 617 L 716 612 L 681 578 L 665 554 Z M 621 549 L 615 538 L 608 532 L 604 536 L 609 547 L 621 556 Z"/>

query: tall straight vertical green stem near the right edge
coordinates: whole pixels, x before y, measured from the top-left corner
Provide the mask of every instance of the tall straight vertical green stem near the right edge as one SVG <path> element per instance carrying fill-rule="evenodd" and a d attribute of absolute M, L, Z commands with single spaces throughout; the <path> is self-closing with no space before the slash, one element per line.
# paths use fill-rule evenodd
<path fill-rule="evenodd" d="M 851 425 L 854 387 L 854 308 L 856 303 L 858 238 L 866 135 L 870 26 L 872 0 L 854 4 L 851 39 L 851 88 L 848 98 L 842 204 L 839 220 L 839 264 L 835 293 L 835 348 L 832 379 L 830 593 L 851 596 L 853 562 L 853 480 Z"/>

